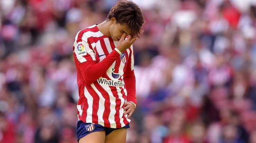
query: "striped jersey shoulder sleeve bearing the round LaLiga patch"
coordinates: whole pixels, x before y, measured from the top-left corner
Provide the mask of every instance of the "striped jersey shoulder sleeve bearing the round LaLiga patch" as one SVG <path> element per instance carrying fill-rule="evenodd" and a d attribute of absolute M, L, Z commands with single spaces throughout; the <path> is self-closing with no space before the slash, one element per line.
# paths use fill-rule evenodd
<path fill-rule="evenodd" d="M 79 64 L 87 61 L 96 61 L 92 45 L 83 31 L 77 33 L 73 46 Z"/>

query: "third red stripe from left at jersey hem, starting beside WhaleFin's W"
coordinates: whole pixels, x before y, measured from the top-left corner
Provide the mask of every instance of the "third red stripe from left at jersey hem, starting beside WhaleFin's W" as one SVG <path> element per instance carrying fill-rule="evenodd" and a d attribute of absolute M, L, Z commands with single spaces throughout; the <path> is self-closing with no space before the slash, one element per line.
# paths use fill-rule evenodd
<path fill-rule="evenodd" d="M 110 98 L 108 95 L 108 92 L 103 89 L 98 82 L 94 82 L 95 87 L 100 91 L 103 98 L 105 99 L 104 107 L 105 110 L 103 112 L 103 120 L 104 120 L 104 126 L 110 128 L 110 122 L 108 120 L 109 114 L 110 114 Z"/>

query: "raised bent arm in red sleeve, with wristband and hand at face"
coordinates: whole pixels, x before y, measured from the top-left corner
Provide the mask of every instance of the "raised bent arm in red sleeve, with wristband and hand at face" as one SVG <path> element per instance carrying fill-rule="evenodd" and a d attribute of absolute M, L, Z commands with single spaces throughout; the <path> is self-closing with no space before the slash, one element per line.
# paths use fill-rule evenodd
<path fill-rule="evenodd" d="M 122 38 L 117 44 L 115 50 L 113 50 L 106 58 L 101 62 L 86 61 L 79 64 L 79 69 L 83 75 L 83 78 L 87 84 L 92 84 L 94 81 L 99 79 L 104 73 L 107 72 L 108 68 L 116 61 L 120 54 L 125 51 L 131 44 L 136 40 L 131 36 L 125 40 L 126 34 L 122 35 Z"/>

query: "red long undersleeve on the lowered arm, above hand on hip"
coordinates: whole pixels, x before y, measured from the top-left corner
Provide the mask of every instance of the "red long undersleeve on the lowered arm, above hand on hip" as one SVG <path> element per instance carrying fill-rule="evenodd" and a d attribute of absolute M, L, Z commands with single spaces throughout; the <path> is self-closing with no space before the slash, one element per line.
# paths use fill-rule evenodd
<path fill-rule="evenodd" d="M 137 104 L 136 101 L 136 79 L 134 70 L 129 75 L 124 76 L 124 82 L 127 90 L 127 101 L 132 101 Z"/>

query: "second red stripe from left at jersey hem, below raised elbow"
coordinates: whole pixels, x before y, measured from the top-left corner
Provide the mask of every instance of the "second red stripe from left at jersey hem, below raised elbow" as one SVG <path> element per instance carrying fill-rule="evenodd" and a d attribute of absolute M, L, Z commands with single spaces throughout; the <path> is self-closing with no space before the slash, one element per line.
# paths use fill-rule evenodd
<path fill-rule="evenodd" d="M 86 87 L 88 92 L 90 93 L 90 95 L 92 96 L 93 98 L 93 104 L 92 104 L 92 123 L 96 123 L 98 124 L 98 110 L 99 110 L 99 101 L 100 101 L 100 98 L 98 96 L 98 94 L 94 91 L 94 89 L 89 86 L 89 87 Z M 88 103 L 90 104 L 90 103 Z"/>

